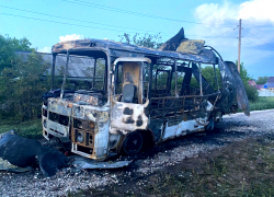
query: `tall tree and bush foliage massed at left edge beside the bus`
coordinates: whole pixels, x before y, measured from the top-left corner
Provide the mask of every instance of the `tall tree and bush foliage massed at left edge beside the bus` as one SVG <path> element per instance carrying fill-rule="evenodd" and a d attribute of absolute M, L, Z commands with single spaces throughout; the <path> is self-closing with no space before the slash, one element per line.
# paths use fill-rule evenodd
<path fill-rule="evenodd" d="M 0 116 L 19 120 L 41 115 L 41 96 L 48 89 L 42 76 L 49 67 L 43 55 L 32 49 L 28 39 L 1 37 Z M 32 51 L 27 57 L 16 50 Z"/>

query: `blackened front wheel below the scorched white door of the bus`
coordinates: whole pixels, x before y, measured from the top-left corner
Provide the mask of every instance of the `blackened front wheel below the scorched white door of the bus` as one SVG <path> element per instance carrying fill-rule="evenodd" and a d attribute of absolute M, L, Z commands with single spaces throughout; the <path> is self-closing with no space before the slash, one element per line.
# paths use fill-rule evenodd
<path fill-rule="evenodd" d="M 127 154 L 136 154 L 140 151 L 142 147 L 142 136 L 139 131 L 130 132 L 124 143 L 123 143 L 123 150 Z"/>

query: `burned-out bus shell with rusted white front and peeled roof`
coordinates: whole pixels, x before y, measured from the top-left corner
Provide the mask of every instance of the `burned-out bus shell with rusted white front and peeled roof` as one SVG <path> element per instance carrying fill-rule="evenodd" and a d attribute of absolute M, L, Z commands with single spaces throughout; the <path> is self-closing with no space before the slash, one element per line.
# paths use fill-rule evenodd
<path fill-rule="evenodd" d="M 249 115 L 235 63 L 204 40 L 174 36 L 152 49 L 79 39 L 58 43 L 52 53 L 43 135 L 70 141 L 71 152 L 82 157 L 103 161 L 135 154 L 167 139 L 210 130 L 238 108 Z"/>

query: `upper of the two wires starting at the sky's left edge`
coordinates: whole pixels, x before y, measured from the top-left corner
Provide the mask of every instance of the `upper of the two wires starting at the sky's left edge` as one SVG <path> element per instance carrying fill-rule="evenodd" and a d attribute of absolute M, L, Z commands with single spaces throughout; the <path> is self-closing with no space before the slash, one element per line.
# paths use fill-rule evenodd
<path fill-rule="evenodd" d="M 53 14 L 47 14 L 47 13 L 34 12 L 34 11 L 30 11 L 30 10 L 23 10 L 23 9 L 11 8 L 11 7 L 4 7 L 4 5 L 0 5 L 0 7 L 5 8 L 5 9 L 11 9 L 11 10 L 19 10 L 19 11 L 22 11 L 22 12 L 28 12 L 28 13 L 34 13 L 34 14 L 39 14 L 39 15 L 46 15 L 46 16 L 52 16 L 52 18 L 57 18 L 57 19 L 71 20 L 71 21 L 77 21 L 77 22 L 84 22 L 84 23 L 91 23 L 91 24 L 99 24 L 99 25 L 104 25 L 104 26 L 113 26 L 113 27 L 126 28 L 126 30 L 135 30 L 135 31 L 144 31 L 144 32 L 159 33 L 159 32 L 155 32 L 155 31 L 145 31 L 145 30 L 130 28 L 130 27 L 125 27 L 125 26 L 110 25 L 110 24 L 103 24 L 103 23 L 95 23 L 95 22 L 91 22 L 91 21 L 77 20 L 77 19 L 72 19 L 72 18 L 64 18 L 64 16 L 59 16 L 59 15 L 53 15 Z M 162 34 L 172 35 L 171 33 L 162 33 Z"/>

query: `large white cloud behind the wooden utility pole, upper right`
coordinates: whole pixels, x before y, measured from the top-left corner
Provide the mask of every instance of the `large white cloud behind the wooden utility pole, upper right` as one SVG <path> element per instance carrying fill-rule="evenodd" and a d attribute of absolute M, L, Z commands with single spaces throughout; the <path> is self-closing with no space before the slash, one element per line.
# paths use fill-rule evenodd
<path fill-rule="evenodd" d="M 216 48 L 225 60 L 235 61 L 238 58 L 239 36 L 239 28 L 236 27 L 242 19 L 241 61 L 251 76 L 269 76 L 265 70 L 274 71 L 271 63 L 274 50 L 273 8 L 274 0 L 246 0 L 242 3 L 224 0 L 201 4 L 195 9 L 194 16 L 204 25 L 192 26 L 186 37 L 205 39 L 206 45 Z"/>

